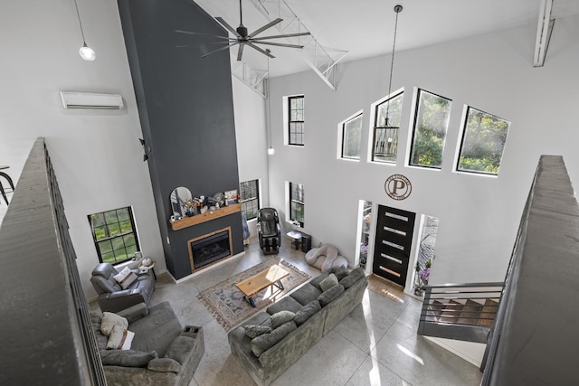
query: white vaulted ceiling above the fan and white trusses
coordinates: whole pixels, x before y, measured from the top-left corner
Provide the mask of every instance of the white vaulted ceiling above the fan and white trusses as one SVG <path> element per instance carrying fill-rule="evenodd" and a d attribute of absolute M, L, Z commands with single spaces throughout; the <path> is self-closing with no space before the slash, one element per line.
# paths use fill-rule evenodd
<path fill-rule="evenodd" d="M 261 0 L 263 1 L 263 0 Z M 277 2 L 283 0 L 269 0 Z M 221 16 L 233 28 L 239 25 L 239 0 L 195 0 L 212 16 Z M 260 0 L 242 0 L 243 24 L 251 33 L 269 22 L 255 6 Z M 343 61 L 392 52 L 394 5 L 398 16 L 396 52 L 449 42 L 522 24 L 537 24 L 541 0 L 285 0 L 318 42 L 328 49 L 344 50 Z M 579 14 L 579 1 L 554 0 L 552 17 Z M 556 28 L 556 27 L 555 27 Z M 271 28 L 261 36 L 278 34 Z M 531 37 L 535 40 L 535 36 Z M 275 41 L 274 41 L 275 42 Z M 308 71 L 295 49 L 270 47 L 271 77 Z M 235 61 L 237 47 L 230 50 Z M 266 69 L 267 58 L 251 48 L 243 61 Z M 529 58 L 529 62 L 532 58 Z"/>

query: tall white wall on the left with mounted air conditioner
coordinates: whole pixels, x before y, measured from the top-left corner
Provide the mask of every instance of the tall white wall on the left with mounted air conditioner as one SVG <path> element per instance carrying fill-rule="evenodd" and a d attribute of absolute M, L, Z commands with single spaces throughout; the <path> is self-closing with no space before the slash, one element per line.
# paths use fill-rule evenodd
<path fill-rule="evenodd" d="M 132 205 L 145 256 L 166 270 L 125 43 L 115 0 L 78 0 L 95 61 L 79 56 L 81 31 L 71 0 L 0 4 L 0 164 L 14 181 L 36 137 L 45 137 L 64 201 L 87 297 L 98 263 L 87 215 Z M 123 96 L 121 111 L 65 110 L 59 90 Z M 16 186 L 17 189 L 17 186 Z M 33 235 L 31 240 L 33 240 Z"/>

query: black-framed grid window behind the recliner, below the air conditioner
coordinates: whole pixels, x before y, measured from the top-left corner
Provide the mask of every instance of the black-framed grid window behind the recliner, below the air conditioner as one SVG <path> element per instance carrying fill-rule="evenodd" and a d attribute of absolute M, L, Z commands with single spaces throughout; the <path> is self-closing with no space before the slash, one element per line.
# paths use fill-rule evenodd
<path fill-rule="evenodd" d="M 101 263 L 119 264 L 139 250 L 133 212 L 126 208 L 89 215 L 92 238 Z"/>

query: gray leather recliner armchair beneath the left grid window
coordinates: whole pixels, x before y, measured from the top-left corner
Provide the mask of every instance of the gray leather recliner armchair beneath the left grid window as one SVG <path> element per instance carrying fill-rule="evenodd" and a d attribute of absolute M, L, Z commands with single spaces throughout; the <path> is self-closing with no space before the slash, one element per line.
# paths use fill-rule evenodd
<path fill-rule="evenodd" d="M 139 274 L 138 269 L 133 272 L 138 275 L 137 280 L 127 289 L 123 289 L 113 278 L 119 271 L 109 263 L 100 263 L 92 270 L 90 283 L 99 294 L 99 306 L 102 312 L 116 313 L 139 303 L 145 303 L 147 308 L 151 306 L 151 297 L 155 289 L 153 270 L 149 269 L 144 274 Z"/>

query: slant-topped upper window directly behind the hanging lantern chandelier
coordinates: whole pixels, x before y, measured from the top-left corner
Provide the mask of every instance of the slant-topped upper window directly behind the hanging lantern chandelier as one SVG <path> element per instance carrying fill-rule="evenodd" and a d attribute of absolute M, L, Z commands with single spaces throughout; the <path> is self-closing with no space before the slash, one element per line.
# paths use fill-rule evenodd
<path fill-rule="evenodd" d="M 398 129 L 402 117 L 402 102 L 403 92 L 400 92 L 376 106 L 372 161 L 396 162 L 396 155 L 398 154 Z M 386 115 L 388 116 L 387 120 Z"/>

